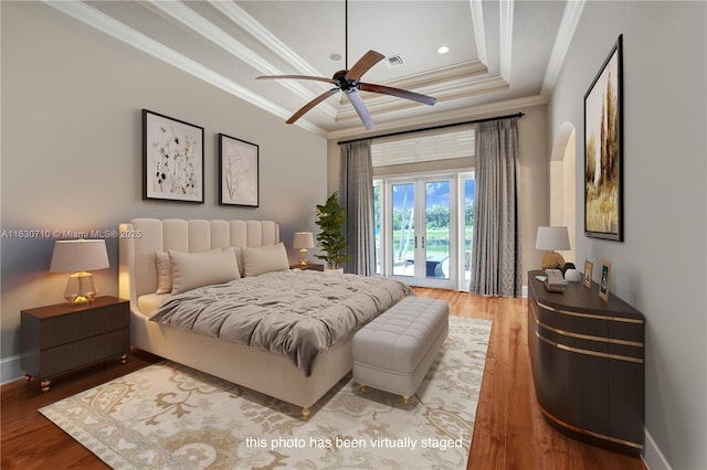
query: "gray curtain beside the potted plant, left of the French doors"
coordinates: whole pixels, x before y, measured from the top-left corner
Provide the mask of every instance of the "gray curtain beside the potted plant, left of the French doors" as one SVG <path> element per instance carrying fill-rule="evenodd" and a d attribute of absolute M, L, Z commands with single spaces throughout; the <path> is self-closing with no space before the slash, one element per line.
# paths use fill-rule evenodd
<path fill-rule="evenodd" d="M 341 146 L 339 203 L 346 211 L 344 233 L 349 259 L 344 271 L 373 274 L 373 169 L 370 140 Z"/>

